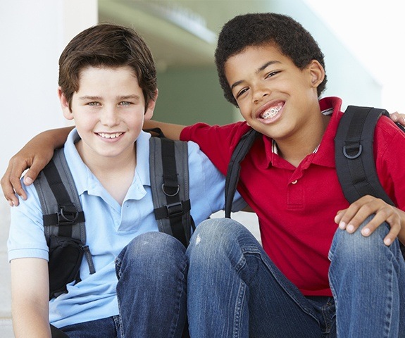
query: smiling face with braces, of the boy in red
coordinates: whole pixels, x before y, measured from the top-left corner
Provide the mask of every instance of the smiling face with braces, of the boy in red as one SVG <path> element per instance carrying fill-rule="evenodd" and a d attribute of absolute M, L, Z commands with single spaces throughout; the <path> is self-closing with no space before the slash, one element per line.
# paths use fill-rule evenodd
<path fill-rule="evenodd" d="M 318 61 L 300 70 L 273 44 L 249 46 L 228 59 L 225 75 L 243 118 L 258 132 L 278 141 L 313 127 L 325 75 Z"/>

